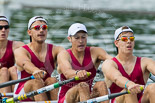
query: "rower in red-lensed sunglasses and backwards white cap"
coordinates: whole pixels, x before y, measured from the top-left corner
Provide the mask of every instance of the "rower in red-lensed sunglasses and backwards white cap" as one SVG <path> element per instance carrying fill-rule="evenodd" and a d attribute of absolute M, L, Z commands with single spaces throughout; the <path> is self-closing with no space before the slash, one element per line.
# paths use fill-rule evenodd
<path fill-rule="evenodd" d="M 51 73 L 55 68 L 58 53 L 65 49 L 45 43 L 47 29 L 48 23 L 43 17 L 35 16 L 29 20 L 27 32 L 32 41 L 15 51 L 15 60 L 18 66 L 18 79 L 31 75 L 35 79 L 15 85 L 15 96 L 57 82 L 56 78 L 51 77 Z M 42 93 L 27 100 L 56 100 L 58 89 L 50 91 L 49 94 L 49 97 L 47 93 Z"/>

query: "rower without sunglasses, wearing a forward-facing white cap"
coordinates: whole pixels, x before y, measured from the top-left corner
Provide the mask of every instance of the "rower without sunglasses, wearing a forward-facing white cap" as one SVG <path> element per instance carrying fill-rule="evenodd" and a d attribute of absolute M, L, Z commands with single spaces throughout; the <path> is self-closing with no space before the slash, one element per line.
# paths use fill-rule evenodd
<path fill-rule="evenodd" d="M 69 27 L 68 40 L 72 47 L 58 55 L 58 72 L 62 81 L 75 76 L 78 76 L 80 81 L 62 86 L 58 103 L 76 103 L 108 93 L 104 82 L 97 82 L 93 91 L 91 87 L 100 62 L 112 57 L 102 48 L 88 47 L 87 37 L 85 25 L 74 23 Z M 91 74 L 90 77 L 87 72 Z"/>

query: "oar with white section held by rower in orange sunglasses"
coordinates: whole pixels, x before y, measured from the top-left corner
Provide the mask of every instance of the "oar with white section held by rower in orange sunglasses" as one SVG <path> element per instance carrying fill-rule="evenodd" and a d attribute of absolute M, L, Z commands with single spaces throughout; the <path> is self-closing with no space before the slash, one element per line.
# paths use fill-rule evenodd
<path fill-rule="evenodd" d="M 140 90 L 142 91 L 143 87 L 140 87 Z M 98 102 L 102 102 L 102 101 L 106 101 L 106 100 L 110 100 L 110 99 L 116 98 L 116 97 L 124 95 L 124 94 L 130 94 L 130 91 L 128 90 L 128 91 L 125 91 L 125 92 L 113 93 L 113 94 L 109 94 L 109 95 L 105 95 L 105 96 L 89 99 L 87 101 L 79 102 L 79 103 L 98 103 Z"/>

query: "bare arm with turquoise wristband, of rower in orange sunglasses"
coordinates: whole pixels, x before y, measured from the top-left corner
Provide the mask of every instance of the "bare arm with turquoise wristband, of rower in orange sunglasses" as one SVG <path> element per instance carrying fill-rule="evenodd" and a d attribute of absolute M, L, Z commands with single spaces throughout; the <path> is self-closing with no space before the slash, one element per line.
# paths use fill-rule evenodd
<path fill-rule="evenodd" d="M 116 64 L 112 60 L 108 59 L 103 62 L 102 71 L 108 80 L 114 82 L 119 87 L 125 88 L 125 83 L 128 81 L 128 79 L 122 76 L 122 74 L 117 69 Z M 127 87 L 134 84 L 134 82 L 129 82 Z"/>

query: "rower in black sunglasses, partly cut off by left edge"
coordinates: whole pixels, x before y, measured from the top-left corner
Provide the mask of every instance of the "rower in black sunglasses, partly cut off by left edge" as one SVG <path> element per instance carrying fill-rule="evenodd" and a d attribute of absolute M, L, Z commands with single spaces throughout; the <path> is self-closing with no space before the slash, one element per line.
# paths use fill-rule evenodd
<path fill-rule="evenodd" d="M 0 84 L 9 80 L 16 80 L 17 73 L 13 52 L 24 43 L 8 40 L 9 20 L 5 16 L 0 16 Z M 14 86 L 0 89 L 0 93 L 13 92 Z"/>

